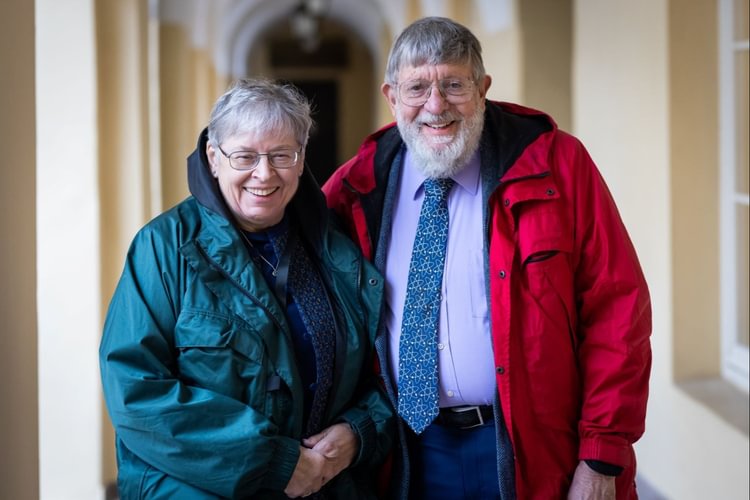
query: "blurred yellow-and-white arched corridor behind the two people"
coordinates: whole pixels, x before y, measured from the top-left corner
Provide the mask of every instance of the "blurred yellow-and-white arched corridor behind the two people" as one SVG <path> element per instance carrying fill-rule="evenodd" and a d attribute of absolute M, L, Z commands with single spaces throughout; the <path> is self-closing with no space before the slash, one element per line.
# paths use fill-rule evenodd
<path fill-rule="evenodd" d="M 749 497 L 748 0 L 4 0 L 0 498 L 112 498 L 106 306 L 229 82 L 310 96 L 322 183 L 391 120 L 388 48 L 425 15 L 609 183 L 654 306 L 643 498 Z"/>

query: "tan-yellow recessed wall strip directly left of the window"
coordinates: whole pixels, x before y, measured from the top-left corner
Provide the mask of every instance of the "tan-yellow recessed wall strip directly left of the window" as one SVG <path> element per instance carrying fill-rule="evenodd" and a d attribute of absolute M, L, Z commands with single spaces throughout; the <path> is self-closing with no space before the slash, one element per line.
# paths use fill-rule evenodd
<path fill-rule="evenodd" d="M 720 373 L 718 9 L 671 2 L 669 14 L 674 375 L 685 380 Z"/>

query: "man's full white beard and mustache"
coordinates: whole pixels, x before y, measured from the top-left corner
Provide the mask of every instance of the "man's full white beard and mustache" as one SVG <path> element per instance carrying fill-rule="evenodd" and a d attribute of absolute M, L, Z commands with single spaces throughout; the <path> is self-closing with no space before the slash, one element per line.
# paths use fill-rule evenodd
<path fill-rule="evenodd" d="M 407 122 L 397 115 L 398 129 L 412 155 L 414 165 L 427 178 L 452 177 L 460 172 L 479 147 L 484 127 L 484 106 L 467 119 L 458 113 L 446 112 L 442 115 L 420 113 L 413 121 Z M 459 123 L 458 132 L 452 137 L 436 138 L 432 142 L 419 133 L 427 123 Z M 438 147 L 436 147 L 438 146 Z"/>

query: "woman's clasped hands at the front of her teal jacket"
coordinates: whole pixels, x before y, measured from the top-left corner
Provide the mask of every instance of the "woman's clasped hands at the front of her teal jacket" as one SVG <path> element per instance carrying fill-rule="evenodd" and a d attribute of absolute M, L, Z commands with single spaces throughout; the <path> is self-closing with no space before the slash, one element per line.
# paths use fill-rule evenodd
<path fill-rule="evenodd" d="M 284 489 L 290 498 L 306 497 L 347 468 L 359 451 L 349 424 L 334 424 L 302 441 L 300 457 Z"/>

